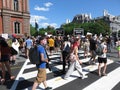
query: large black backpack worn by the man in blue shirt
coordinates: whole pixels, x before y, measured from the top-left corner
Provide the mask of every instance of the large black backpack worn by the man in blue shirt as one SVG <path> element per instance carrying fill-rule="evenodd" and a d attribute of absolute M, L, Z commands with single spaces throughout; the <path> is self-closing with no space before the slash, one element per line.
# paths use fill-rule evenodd
<path fill-rule="evenodd" d="M 32 64 L 40 64 L 40 54 L 38 52 L 38 46 L 31 47 L 29 50 L 29 60 Z"/>

